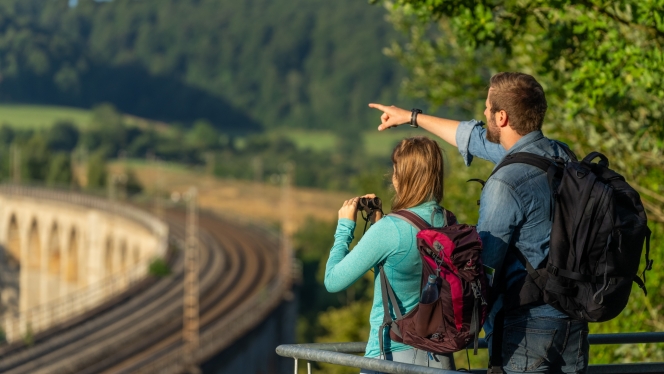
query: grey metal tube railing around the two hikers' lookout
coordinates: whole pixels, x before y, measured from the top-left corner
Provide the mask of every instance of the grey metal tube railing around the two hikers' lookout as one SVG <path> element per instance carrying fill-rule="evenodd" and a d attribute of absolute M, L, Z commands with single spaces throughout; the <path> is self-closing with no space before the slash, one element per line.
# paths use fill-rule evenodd
<path fill-rule="evenodd" d="M 664 343 L 664 332 L 593 334 L 588 336 L 591 345 L 597 344 L 638 344 Z M 486 348 L 484 339 L 480 339 L 480 348 Z M 463 373 L 454 370 L 441 370 L 424 366 L 410 365 L 375 358 L 356 356 L 364 353 L 365 342 L 353 343 L 318 343 L 284 344 L 277 347 L 277 354 L 295 360 L 295 374 L 298 373 L 299 360 L 307 361 L 307 372 L 311 374 L 312 362 L 325 362 L 342 366 L 363 368 L 383 373 L 399 374 L 452 374 Z M 474 369 L 472 373 L 486 373 L 487 369 Z M 644 362 L 628 364 L 590 365 L 588 374 L 629 374 L 629 373 L 664 373 L 664 362 Z"/>

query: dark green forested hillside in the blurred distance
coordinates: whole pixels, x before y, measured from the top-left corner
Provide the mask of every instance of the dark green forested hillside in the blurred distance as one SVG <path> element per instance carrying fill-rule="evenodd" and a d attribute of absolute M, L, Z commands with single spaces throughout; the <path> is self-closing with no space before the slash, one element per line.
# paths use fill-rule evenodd
<path fill-rule="evenodd" d="M 366 129 L 367 102 L 396 101 L 403 74 L 382 49 L 397 37 L 356 0 L 2 0 L 0 100 L 236 133 Z"/>

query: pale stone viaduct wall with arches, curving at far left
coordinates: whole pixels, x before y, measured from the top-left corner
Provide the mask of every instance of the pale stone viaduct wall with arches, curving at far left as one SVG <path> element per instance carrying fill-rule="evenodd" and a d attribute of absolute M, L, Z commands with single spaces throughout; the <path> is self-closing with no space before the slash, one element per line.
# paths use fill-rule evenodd
<path fill-rule="evenodd" d="M 131 206 L 0 186 L 0 325 L 7 340 L 122 292 L 167 245 L 168 226 Z"/>

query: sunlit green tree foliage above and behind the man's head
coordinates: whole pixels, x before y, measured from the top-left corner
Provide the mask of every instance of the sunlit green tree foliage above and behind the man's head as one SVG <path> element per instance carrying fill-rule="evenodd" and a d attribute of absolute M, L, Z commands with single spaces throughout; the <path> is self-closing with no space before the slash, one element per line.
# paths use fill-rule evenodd
<path fill-rule="evenodd" d="M 409 33 L 389 53 L 411 70 L 411 94 L 468 116 L 493 73 L 534 74 L 547 92 L 547 129 L 579 154 L 609 155 L 664 221 L 662 184 L 649 182 L 664 169 L 661 1 L 398 0 L 388 9 Z"/>

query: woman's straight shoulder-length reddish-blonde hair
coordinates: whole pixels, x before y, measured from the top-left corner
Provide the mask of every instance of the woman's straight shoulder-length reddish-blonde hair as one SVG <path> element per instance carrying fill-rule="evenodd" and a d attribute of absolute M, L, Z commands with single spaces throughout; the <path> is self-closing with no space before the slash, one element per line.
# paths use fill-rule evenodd
<path fill-rule="evenodd" d="M 443 153 L 436 141 L 426 136 L 402 140 L 392 151 L 392 164 L 398 184 L 392 211 L 443 200 Z"/>

